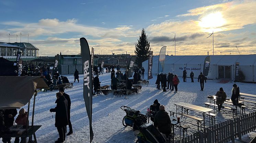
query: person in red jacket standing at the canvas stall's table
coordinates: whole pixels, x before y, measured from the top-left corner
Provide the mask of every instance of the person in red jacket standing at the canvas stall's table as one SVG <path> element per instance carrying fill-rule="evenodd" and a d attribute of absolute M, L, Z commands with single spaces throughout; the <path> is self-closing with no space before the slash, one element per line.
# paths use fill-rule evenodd
<path fill-rule="evenodd" d="M 26 128 L 26 126 L 27 126 L 27 112 L 25 111 L 24 108 L 22 108 L 19 111 L 19 115 L 15 119 L 15 123 L 17 123 L 17 125 L 23 125 L 23 128 Z M 16 137 L 14 143 L 19 143 L 19 142 L 20 142 L 20 138 Z M 25 143 L 25 138 L 21 138 L 21 143 Z"/>

